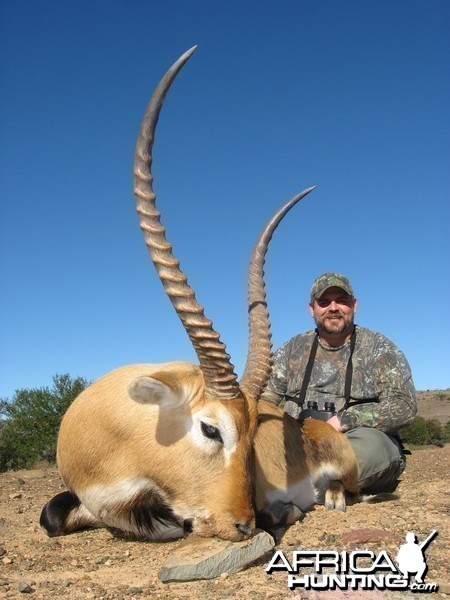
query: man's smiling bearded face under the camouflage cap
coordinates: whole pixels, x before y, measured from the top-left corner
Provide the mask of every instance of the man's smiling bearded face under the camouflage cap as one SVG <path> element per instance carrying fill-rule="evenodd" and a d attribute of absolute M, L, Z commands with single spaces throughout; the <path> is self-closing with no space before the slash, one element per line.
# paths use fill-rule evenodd
<path fill-rule="evenodd" d="M 339 335 L 353 327 L 356 300 L 339 287 L 328 288 L 309 308 L 320 331 Z"/>

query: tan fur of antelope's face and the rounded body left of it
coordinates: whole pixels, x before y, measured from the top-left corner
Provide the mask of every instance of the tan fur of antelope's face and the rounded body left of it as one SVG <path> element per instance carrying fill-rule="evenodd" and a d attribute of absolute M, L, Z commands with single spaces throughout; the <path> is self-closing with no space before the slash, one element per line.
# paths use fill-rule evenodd
<path fill-rule="evenodd" d="M 128 390 L 133 381 L 145 376 L 163 381 L 187 400 L 169 410 L 163 404 L 135 402 Z M 230 415 L 238 443 L 229 464 L 219 447 L 205 456 L 189 438 L 199 410 L 212 420 L 224 412 Z M 67 411 L 58 439 L 58 466 L 67 487 L 94 514 L 91 488 L 142 478 L 158 487 L 176 513 L 197 514 L 197 533 L 241 539 L 236 523 L 253 526 L 251 418 L 256 420 L 255 411 L 251 417 L 244 398 L 226 402 L 205 398 L 203 377 L 195 365 L 123 367 L 92 384 Z M 143 493 L 136 493 L 133 500 L 139 502 Z M 119 514 L 124 509 L 122 502 L 114 510 Z"/>

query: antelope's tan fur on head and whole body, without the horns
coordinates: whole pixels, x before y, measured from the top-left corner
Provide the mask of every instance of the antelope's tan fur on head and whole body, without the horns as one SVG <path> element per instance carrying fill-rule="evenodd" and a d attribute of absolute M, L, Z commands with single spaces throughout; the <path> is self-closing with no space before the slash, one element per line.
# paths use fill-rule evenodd
<path fill-rule="evenodd" d="M 220 425 L 223 446 L 204 439 L 199 418 Z M 78 513 L 92 513 L 92 523 L 126 530 L 133 507 L 157 494 L 192 519 L 196 533 L 231 540 L 254 526 L 252 496 L 257 511 L 268 499 L 304 510 L 316 492 L 330 508 L 345 509 L 344 488 L 357 490 L 344 435 L 321 421 L 300 427 L 264 401 L 209 399 L 200 369 L 184 362 L 122 367 L 88 387 L 63 419 L 58 465 L 82 503 Z"/>

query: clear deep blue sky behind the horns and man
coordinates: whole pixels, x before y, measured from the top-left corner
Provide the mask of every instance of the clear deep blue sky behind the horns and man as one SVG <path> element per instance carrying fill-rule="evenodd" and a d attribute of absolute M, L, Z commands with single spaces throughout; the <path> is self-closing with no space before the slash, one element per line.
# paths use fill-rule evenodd
<path fill-rule="evenodd" d="M 0 3 L 0 398 L 195 354 L 151 265 L 132 161 L 154 86 L 158 208 L 242 373 L 251 248 L 274 346 L 310 329 L 314 278 L 346 274 L 357 322 L 450 386 L 447 0 Z M 444 313 L 444 317 L 441 313 Z"/>

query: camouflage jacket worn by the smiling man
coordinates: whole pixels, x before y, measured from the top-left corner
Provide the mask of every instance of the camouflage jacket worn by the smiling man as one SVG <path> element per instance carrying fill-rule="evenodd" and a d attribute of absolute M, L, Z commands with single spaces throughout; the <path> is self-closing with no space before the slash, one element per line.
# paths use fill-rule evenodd
<path fill-rule="evenodd" d="M 284 401 L 284 410 L 294 418 L 298 418 L 301 407 L 289 397 L 299 395 L 315 335 L 315 331 L 297 335 L 275 352 L 272 376 L 262 395 L 275 404 Z M 326 401 L 334 402 L 342 431 L 375 427 L 395 433 L 409 425 L 416 415 L 417 401 L 403 353 L 381 333 L 357 325 L 350 406 L 344 410 L 349 356 L 350 341 L 339 348 L 319 341 L 305 403 L 315 400 L 323 409 Z"/>

